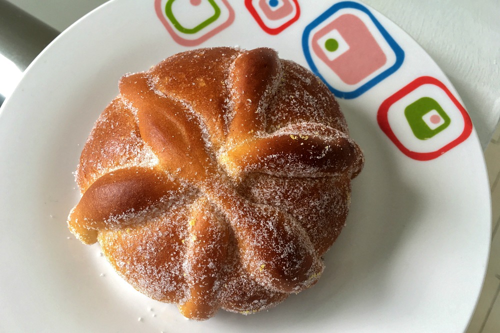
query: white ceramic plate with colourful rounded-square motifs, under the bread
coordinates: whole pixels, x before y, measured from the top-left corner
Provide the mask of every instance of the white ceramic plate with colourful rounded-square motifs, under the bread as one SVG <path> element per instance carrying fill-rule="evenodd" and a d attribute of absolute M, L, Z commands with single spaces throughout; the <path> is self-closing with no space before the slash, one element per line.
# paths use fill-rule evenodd
<path fill-rule="evenodd" d="M 487 262 L 489 186 L 460 98 L 430 57 L 357 2 L 166 2 L 94 10 L 40 54 L 4 103 L 0 331 L 464 330 Z M 65 220 L 79 198 L 71 172 L 119 77 L 220 45 L 270 46 L 312 68 L 344 97 L 366 165 L 313 288 L 258 314 L 195 322 L 133 290 Z"/>

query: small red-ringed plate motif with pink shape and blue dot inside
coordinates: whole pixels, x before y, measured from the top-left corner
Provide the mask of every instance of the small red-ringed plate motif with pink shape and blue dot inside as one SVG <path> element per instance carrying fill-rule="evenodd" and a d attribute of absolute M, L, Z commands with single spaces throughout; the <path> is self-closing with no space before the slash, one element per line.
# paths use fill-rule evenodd
<path fill-rule="evenodd" d="M 300 16 L 297 0 L 245 0 L 258 25 L 269 34 L 278 34 Z"/>

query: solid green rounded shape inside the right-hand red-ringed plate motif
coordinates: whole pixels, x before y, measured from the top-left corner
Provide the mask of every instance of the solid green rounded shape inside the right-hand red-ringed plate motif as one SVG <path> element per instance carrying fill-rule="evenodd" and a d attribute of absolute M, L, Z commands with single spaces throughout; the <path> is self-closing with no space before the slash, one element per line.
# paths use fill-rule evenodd
<path fill-rule="evenodd" d="M 437 113 L 443 118 L 444 123 L 439 125 L 438 127 L 431 129 L 425 121 L 423 121 L 423 116 L 432 111 L 436 110 Z M 409 104 L 404 108 L 404 116 L 408 121 L 408 124 L 411 128 L 411 131 L 416 136 L 416 138 L 420 140 L 426 140 L 446 127 L 451 123 L 451 119 L 446 114 L 446 112 L 442 109 L 441 105 L 431 97 L 421 97 Z"/>

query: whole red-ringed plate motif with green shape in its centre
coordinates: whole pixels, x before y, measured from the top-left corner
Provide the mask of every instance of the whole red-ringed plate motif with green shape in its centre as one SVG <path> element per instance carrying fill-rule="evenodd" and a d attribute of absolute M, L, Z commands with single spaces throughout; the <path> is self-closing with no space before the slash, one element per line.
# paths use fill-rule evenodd
<path fill-rule="evenodd" d="M 469 137 L 472 122 L 449 89 L 429 76 L 418 77 L 385 99 L 378 125 L 405 155 L 439 157 Z"/>

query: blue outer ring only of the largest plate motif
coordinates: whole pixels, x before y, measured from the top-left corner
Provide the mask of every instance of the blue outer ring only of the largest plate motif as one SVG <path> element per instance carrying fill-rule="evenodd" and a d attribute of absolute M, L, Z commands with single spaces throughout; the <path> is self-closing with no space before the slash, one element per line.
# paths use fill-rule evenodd
<path fill-rule="evenodd" d="M 353 9 L 358 9 L 365 14 L 369 16 L 369 18 L 373 21 L 375 26 L 377 27 L 378 31 L 382 34 L 382 36 L 385 38 L 387 43 L 389 44 L 390 48 L 392 48 L 392 51 L 394 51 L 394 54 L 396 55 L 396 62 L 390 66 L 389 68 L 385 69 L 383 72 L 380 74 L 376 75 L 373 77 L 371 80 L 368 82 L 364 83 L 357 89 L 353 91 L 340 91 L 332 87 L 321 75 L 319 70 L 317 69 L 316 65 L 314 64 L 314 61 L 312 60 L 312 56 L 310 54 L 310 48 L 309 48 L 309 36 L 313 28 L 318 26 L 320 23 L 328 19 L 331 15 L 333 15 L 335 12 L 337 12 L 340 9 L 343 8 L 353 8 Z M 396 41 L 392 38 L 392 36 L 385 30 L 385 28 L 380 24 L 380 22 L 373 16 L 373 14 L 360 3 L 353 2 L 353 1 L 341 1 L 337 2 L 328 9 L 326 9 L 325 12 L 323 12 L 321 15 L 316 17 L 312 22 L 310 22 L 304 29 L 304 32 L 302 33 L 302 50 L 304 52 L 305 60 L 307 61 L 307 64 L 309 65 L 310 69 L 314 74 L 316 74 L 330 89 L 331 92 L 336 97 L 344 98 L 344 99 L 352 99 L 360 96 L 367 90 L 371 89 L 373 86 L 378 84 L 380 81 L 385 79 L 387 76 L 390 74 L 394 73 L 401 64 L 403 63 L 404 60 L 404 51 L 403 49 L 396 43 Z"/>

